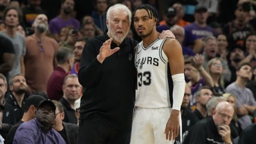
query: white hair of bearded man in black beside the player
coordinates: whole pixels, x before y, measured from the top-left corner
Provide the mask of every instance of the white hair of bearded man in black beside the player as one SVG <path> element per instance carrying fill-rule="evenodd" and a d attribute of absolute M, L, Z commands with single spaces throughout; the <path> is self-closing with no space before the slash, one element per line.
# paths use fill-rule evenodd
<path fill-rule="evenodd" d="M 124 4 L 115 4 L 113 6 L 110 6 L 108 11 L 107 11 L 107 20 L 110 21 L 110 13 L 112 13 L 113 11 L 117 11 L 117 10 L 125 11 L 127 13 L 128 17 L 129 17 L 129 23 L 131 24 L 131 22 L 132 22 L 132 12 Z"/>

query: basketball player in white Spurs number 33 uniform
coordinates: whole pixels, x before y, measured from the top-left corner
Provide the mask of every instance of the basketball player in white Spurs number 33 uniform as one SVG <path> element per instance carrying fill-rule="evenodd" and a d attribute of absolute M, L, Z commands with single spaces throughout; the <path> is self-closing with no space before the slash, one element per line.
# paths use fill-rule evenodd
<path fill-rule="evenodd" d="M 157 12 L 151 5 L 138 6 L 133 22 L 142 42 L 135 51 L 138 90 L 131 143 L 181 143 L 180 107 L 186 85 L 181 45 L 172 38 L 158 38 Z M 168 83 L 170 76 L 173 83 Z"/>

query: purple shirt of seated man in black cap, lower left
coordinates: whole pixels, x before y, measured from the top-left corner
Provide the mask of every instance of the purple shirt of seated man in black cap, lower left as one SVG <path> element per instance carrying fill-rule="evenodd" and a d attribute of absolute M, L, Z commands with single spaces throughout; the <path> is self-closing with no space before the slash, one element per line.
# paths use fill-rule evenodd
<path fill-rule="evenodd" d="M 41 127 L 41 123 L 39 123 L 36 118 L 32 119 L 31 121 L 22 123 L 15 133 L 13 144 L 66 144 L 64 139 L 57 131 L 51 128 L 48 132 L 45 133 L 43 130 L 41 130 Z"/>

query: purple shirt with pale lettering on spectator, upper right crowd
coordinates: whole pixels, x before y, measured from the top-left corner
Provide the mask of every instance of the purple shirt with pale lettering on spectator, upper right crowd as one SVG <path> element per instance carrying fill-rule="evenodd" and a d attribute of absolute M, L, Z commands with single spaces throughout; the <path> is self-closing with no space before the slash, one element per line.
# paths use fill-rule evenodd
<path fill-rule="evenodd" d="M 190 25 L 185 27 L 185 39 L 183 45 L 188 46 L 192 45 L 194 41 L 198 38 L 203 38 L 205 36 L 213 36 L 214 30 L 210 26 L 206 26 L 204 28 L 199 27 L 196 23 L 191 23 Z"/>

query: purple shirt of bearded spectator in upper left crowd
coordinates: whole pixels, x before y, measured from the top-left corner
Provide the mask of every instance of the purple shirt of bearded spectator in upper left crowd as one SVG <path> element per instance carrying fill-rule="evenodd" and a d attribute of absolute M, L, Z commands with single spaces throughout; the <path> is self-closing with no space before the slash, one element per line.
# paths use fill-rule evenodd
<path fill-rule="evenodd" d="M 49 28 L 52 34 L 59 34 L 62 27 L 80 28 L 80 23 L 75 18 L 69 20 L 63 20 L 60 17 L 53 18 L 49 23 Z"/>

